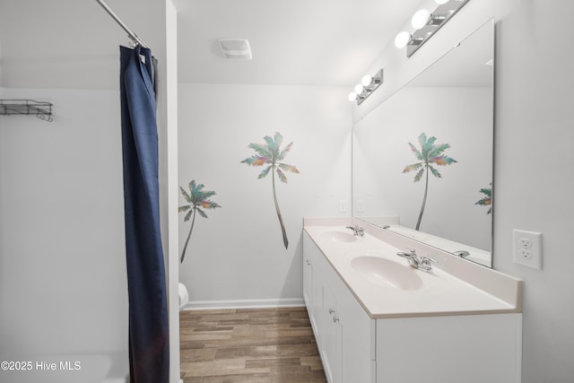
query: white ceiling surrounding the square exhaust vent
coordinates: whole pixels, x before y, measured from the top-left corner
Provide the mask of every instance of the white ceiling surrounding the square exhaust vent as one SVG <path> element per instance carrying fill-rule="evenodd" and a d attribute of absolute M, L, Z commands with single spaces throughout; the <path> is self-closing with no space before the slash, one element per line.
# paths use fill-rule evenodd
<path fill-rule="evenodd" d="M 350 85 L 421 0 L 175 0 L 185 83 Z M 220 38 L 248 39 L 253 60 L 226 60 Z"/>

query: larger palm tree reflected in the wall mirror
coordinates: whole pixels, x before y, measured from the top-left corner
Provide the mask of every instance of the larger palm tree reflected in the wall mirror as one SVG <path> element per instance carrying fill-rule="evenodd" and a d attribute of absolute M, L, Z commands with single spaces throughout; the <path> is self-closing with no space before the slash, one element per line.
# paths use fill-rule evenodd
<path fill-rule="evenodd" d="M 414 155 L 420 162 L 415 162 L 412 165 L 407 165 L 403 173 L 407 173 L 409 171 L 418 170 L 416 175 L 414 176 L 414 182 L 419 182 L 422 178 L 422 175 L 425 174 L 426 170 L 426 179 L 424 185 L 424 196 L 422 197 L 422 206 L 421 206 L 421 213 L 419 213 L 419 220 L 416 222 L 416 230 L 419 230 L 421 227 L 421 220 L 422 220 L 422 213 L 424 213 L 424 206 L 427 203 L 427 194 L 429 191 L 429 172 L 436 178 L 442 178 L 439 170 L 436 170 L 433 165 L 445 166 L 450 165 L 453 162 L 457 162 L 452 158 L 448 157 L 447 155 L 442 154 L 442 152 L 446 151 L 450 148 L 449 144 L 434 144 L 437 140 L 436 137 L 430 137 L 427 139 L 427 135 L 422 133 L 419 135 L 419 144 L 421 144 L 421 150 L 419 151 L 413 144 L 409 143 L 411 150 L 413 151 Z"/>

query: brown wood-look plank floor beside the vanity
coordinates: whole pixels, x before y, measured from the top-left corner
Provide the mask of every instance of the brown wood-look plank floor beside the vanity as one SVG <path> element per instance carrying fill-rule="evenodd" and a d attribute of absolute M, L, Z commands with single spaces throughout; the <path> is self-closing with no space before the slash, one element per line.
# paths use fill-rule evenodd
<path fill-rule="evenodd" d="M 326 382 L 307 309 L 179 313 L 181 378 L 193 382 Z"/>

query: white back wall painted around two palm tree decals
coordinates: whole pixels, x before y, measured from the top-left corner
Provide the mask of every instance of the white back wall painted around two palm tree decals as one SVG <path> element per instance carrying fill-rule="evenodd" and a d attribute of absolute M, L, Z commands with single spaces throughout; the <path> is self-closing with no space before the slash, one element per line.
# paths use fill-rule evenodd
<path fill-rule="evenodd" d="M 179 85 L 179 186 L 217 193 L 222 208 L 197 218 L 180 280 L 196 305 L 302 302 L 304 216 L 350 215 L 351 106 L 346 89 L 265 85 Z M 251 143 L 280 132 L 291 142 L 288 173 L 277 182 L 289 248 L 274 209 L 272 180 L 240 163 Z M 180 196 L 180 205 L 184 199 Z M 339 202 L 344 212 L 339 212 Z M 180 214 L 183 248 L 190 222 Z M 240 302 L 239 302 L 240 301 Z"/>

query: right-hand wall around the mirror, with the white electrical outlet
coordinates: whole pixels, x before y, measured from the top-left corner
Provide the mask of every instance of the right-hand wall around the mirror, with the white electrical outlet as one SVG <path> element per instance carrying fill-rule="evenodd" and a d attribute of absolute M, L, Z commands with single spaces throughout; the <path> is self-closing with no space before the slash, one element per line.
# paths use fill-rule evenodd
<path fill-rule="evenodd" d="M 494 16 L 494 268 L 525 281 L 523 383 L 574 379 L 574 71 L 572 51 L 556 38 L 570 33 L 572 14 L 564 0 L 470 1 L 410 59 L 385 48 L 368 73 L 385 67 L 387 81 L 355 110 L 361 118 Z M 544 233 L 542 271 L 513 263 L 515 228 Z"/>

